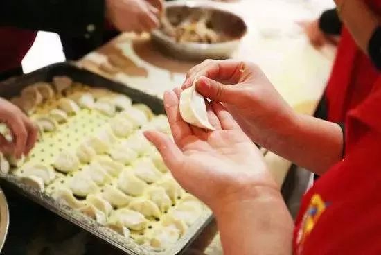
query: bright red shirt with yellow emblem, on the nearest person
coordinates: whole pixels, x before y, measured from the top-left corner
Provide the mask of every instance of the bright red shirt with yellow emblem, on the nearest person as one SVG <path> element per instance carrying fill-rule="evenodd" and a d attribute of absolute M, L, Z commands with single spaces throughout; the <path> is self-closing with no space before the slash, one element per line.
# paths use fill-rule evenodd
<path fill-rule="evenodd" d="M 305 194 L 294 254 L 381 254 L 381 77 L 346 118 L 346 157 Z"/>

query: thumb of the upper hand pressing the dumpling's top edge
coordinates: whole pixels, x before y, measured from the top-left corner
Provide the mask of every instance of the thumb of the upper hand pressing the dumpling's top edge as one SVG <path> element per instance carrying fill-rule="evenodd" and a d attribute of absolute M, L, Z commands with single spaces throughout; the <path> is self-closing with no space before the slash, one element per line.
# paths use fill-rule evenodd
<path fill-rule="evenodd" d="M 240 85 L 224 85 L 205 76 L 201 76 L 197 80 L 196 88 L 202 96 L 215 102 L 237 105 L 238 102 L 242 100 L 242 89 Z"/>

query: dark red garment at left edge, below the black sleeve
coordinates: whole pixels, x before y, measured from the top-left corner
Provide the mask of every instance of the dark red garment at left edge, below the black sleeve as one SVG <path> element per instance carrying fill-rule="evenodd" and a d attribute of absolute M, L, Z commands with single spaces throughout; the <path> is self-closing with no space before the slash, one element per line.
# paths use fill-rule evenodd
<path fill-rule="evenodd" d="M 21 66 L 21 60 L 35 41 L 36 33 L 0 27 L 0 73 Z"/>

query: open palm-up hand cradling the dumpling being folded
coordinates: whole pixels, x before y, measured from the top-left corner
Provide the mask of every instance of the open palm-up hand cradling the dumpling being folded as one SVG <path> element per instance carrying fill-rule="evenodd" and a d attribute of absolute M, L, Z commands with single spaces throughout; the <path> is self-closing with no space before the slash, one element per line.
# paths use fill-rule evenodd
<path fill-rule="evenodd" d="M 157 131 L 145 132 L 145 137 L 157 147 L 179 184 L 212 210 L 252 197 L 250 191 L 258 188 L 278 191 L 258 148 L 220 103 L 207 106 L 215 131 L 184 122 L 173 91 L 164 95 L 164 105 L 176 145 Z"/>

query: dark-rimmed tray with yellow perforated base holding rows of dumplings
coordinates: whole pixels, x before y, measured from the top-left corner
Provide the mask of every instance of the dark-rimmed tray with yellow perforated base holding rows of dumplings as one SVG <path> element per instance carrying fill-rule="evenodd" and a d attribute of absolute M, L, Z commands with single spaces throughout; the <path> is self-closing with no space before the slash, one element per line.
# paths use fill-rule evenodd
<path fill-rule="evenodd" d="M 53 76 L 61 75 L 69 76 L 76 82 L 81 82 L 89 86 L 107 87 L 107 89 L 112 91 L 126 94 L 132 98 L 134 103 L 144 103 L 150 107 L 154 114 L 163 114 L 163 103 L 159 98 L 154 98 L 144 94 L 141 91 L 126 87 L 125 85 L 121 85 L 116 82 L 112 82 L 94 73 L 79 69 L 78 67 L 67 63 L 53 64 L 50 67 L 40 69 L 26 76 L 3 82 L 3 84 L 0 85 L 0 96 L 4 98 L 17 96 L 19 91 L 28 85 L 42 81 L 50 82 Z M 93 125 L 87 125 L 88 121 L 94 121 Z M 102 116 L 96 112 L 89 112 L 89 114 L 85 114 L 83 116 L 75 116 L 73 119 L 71 119 L 71 121 L 69 121 L 69 123 L 64 124 L 66 126 L 60 128 L 62 131 L 60 131 L 59 135 L 47 136 L 44 143 L 37 144 L 36 148 L 33 149 L 33 151 L 36 153 L 35 155 L 32 155 L 30 161 L 44 160 L 46 162 L 51 162 L 53 157 L 57 155 L 57 152 L 59 152 L 60 148 L 68 148 L 71 146 L 76 148 L 78 143 L 81 141 L 80 137 L 84 136 L 84 134 L 87 132 L 94 132 L 94 130 L 87 129 L 94 127 L 96 129 L 96 127 L 101 127 L 106 121 L 107 118 L 105 118 L 105 116 Z M 81 125 L 83 125 L 83 129 L 78 128 L 78 130 L 73 130 L 73 126 L 78 127 Z M 65 139 L 65 137 L 70 137 L 70 139 Z M 99 225 L 94 220 L 84 216 L 82 213 L 73 211 L 73 209 L 69 208 L 68 206 L 64 206 L 61 203 L 55 202 L 55 200 L 53 200 L 51 197 L 48 197 L 48 195 L 40 193 L 33 188 L 21 184 L 15 175 L 1 173 L 0 177 L 38 204 L 41 204 L 42 206 L 53 211 L 54 213 L 57 213 L 63 218 L 70 220 L 76 225 L 87 229 L 99 238 L 106 240 L 107 242 L 118 247 L 119 249 L 122 249 L 128 254 L 180 254 L 188 245 L 190 245 L 192 240 L 198 234 L 200 234 L 200 232 L 211 220 L 211 212 L 209 210 L 205 210 L 197 222 L 195 222 L 192 226 L 190 226 L 189 229 L 187 229 L 186 234 L 181 236 L 175 245 L 169 247 L 163 252 L 155 252 L 152 249 L 148 249 L 148 247 L 138 245 L 134 242 L 134 240 L 130 238 L 125 238 L 112 231 L 111 229 Z"/>

